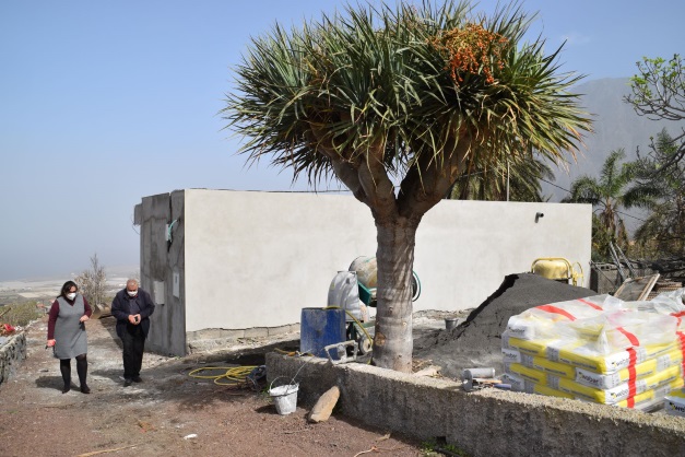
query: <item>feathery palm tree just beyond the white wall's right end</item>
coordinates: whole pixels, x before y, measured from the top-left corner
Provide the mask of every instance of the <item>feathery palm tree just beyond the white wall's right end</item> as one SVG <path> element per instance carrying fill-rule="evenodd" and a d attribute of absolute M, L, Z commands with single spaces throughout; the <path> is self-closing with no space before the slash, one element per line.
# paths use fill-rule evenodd
<path fill-rule="evenodd" d="M 570 195 L 562 202 L 591 203 L 597 212 L 593 223 L 594 247 L 601 257 L 609 257 L 609 243 L 627 246 L 628 234 L 621 216 L 622 209 L 651 209 L 657 202 L 659 190 L 650 185 L 634 185 L 634 172 L 629 165 L 621 165 L 625 151 L 610 152 L 599 178 L 580 176 L 571 184 Z M 600 236 L 601 234 L 601 236 Z"/>

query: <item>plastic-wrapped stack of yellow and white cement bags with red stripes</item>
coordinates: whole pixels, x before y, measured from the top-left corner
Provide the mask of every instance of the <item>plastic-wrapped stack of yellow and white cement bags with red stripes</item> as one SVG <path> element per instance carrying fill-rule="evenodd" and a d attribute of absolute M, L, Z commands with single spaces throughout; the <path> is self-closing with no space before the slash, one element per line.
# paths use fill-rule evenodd
<path fill-rule="evenodd" d="M 513 390 L 648 409 L 683 387 L 685 306 L 610 295 L 530 308 L 503 333 Z"/>

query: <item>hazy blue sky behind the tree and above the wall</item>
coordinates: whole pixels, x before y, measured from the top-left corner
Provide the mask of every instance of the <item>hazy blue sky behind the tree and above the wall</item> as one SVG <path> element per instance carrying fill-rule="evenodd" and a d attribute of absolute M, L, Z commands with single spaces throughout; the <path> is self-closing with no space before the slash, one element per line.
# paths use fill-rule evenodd
<path fill-rule="evenodd" d="M 244 166 L 217 112 L 250 36 L 334 0 L 0 0 L 0 280 L 139 262 L 133 207 L 184 188 L 306 190 Z M 477 10 L 492 12 L 496 1 Z M 685 52 L 685 2 L 538 0 L 534 32 L 588 80 Z"/>

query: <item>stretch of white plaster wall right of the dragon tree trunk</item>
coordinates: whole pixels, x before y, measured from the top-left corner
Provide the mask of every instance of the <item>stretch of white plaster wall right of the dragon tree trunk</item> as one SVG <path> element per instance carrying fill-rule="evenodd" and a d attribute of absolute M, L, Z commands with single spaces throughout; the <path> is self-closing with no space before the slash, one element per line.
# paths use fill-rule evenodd
<path fill-rule="evenodd" d="M 414 271 L 422 294 L 414 310 L 477 307 L 507 274 L 541 257 L 578 261 L 590 274 L 590 204 L 445 200 L 416 233 Z M 535 222 L 535 213 L 543 218 Z"/>

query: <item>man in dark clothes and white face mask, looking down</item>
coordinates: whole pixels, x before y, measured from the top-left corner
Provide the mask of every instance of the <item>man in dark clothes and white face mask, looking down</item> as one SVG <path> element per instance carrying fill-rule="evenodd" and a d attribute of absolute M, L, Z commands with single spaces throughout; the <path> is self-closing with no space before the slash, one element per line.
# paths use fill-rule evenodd
<path fill-rule="evenodd" d="M 117 318 L 117 335 L 123 345 L 123 387 L 143 380 L 140 368 L 154 309 L 150 294 L 140 289 L 134 279 L 129 279 L 126 289 L 117 292 L 111 302 L 111 315 Z"/>

